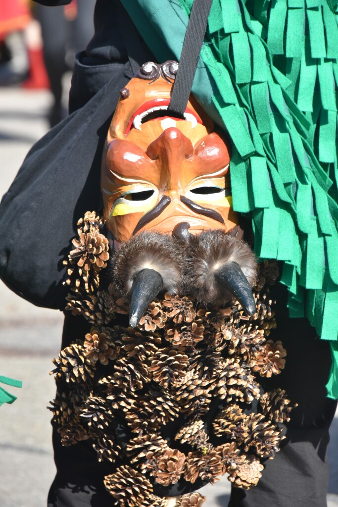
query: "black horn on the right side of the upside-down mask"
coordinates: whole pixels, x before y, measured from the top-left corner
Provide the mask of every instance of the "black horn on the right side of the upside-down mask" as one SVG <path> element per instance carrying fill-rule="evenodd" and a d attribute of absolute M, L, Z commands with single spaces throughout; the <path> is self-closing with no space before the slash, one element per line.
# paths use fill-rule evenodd
<path fill-rule="evenodd" d="M 215 280 L 226 288 L 243 306 L 248 315 L 256 311 L 256 303 L 248 280 L 237 262 L 228 262 L 215 272 Z"/>

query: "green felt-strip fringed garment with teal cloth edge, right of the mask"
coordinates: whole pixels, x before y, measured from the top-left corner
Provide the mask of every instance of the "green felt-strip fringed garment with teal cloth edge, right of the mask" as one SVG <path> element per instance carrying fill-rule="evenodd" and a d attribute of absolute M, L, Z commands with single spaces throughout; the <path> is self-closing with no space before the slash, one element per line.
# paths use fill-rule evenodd
<path fill-rule="evenodd" d="M 192 0 L 123 2 L 158 60 L 179 59 Z M 193 85 L 194 95 L 232 138 L 234 209 L 251 214 L 258 257 L 284 262 L 281 281 L 289 289 L 290 315 L 306 315 L 321 338 L 332 342 L 327 388 L 333 398 L 336 9 L 334 0 L 213 0 Z"/>

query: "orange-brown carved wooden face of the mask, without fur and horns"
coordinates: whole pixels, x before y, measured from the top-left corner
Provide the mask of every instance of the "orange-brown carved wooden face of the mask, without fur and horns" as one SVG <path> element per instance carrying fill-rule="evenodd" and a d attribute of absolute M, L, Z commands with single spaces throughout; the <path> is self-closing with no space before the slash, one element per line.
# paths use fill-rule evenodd
<path fill-rule="evenodd" d="M 184 119 L 165 116 L 178 64 L 145 63 L 121 90 L 102 160 L 104 219 L 118 242 L 143 230 L 228 231 L 230 142 L 193 96 Z"/>

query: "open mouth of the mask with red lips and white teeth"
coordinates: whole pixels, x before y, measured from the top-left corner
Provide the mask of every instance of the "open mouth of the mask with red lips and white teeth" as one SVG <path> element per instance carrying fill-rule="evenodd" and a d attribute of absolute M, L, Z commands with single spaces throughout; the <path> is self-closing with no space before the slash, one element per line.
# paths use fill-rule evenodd
<path fill-rule="evenodd" d="M 127 135 L 133 128 L 142 130 L 142 125 L 151 120 L 183 121 L 181 118 L 175 118 L 174 116 L 166 115 L 169 103 L 170 99 L 157 98 L 154 100 L 149 100 L 148 102 L 142 104 L 129 120 L 125 135 Z M 198 123 L 202 125 L 201 118 L 192 110 L 190 110 L 189 107 L 187 107 L 185 110 L 184 121 L 191 122 L 192 128 L 196 127 Z M 169 127 L 172 125 L 169 125 L 168 123 L 167 126 Z"/>

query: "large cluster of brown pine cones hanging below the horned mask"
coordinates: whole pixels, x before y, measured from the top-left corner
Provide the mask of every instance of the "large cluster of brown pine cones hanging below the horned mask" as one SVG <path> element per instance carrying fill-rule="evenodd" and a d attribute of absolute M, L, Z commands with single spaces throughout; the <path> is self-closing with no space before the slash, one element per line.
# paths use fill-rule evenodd
<path fill-rule="evenodd" d="M 280 423 L 292 409 L 283 390 L 263 393 L 258 382 L 285 364 L 281 342 L 266 340 L 275 327 L 267 284 L 278 276 L 276 263 L 260 265 L 252 317 L 236 302 L 207 309 L 166 294 L 134 329 L 116 324 L 128 305 L 114 287 L 100 287 L 108 242 L 96 213 L 79 222 L 79 235 L 69 256 L 67 310 L 93 327 L 53 360 L 62 392 L 50 410 L 63 445 L 93 442 L 99 461 L 112 464 L 104 484 L 119 507 L 166 505 L 156 484 L 214 483 L 228 474 L 236 487 L 256 485 L 261 459 L 279 450 Z M 127 428 L 127 442 L 117 424 Z M 183 495 L 176 507 L 204 499 Z"/>

